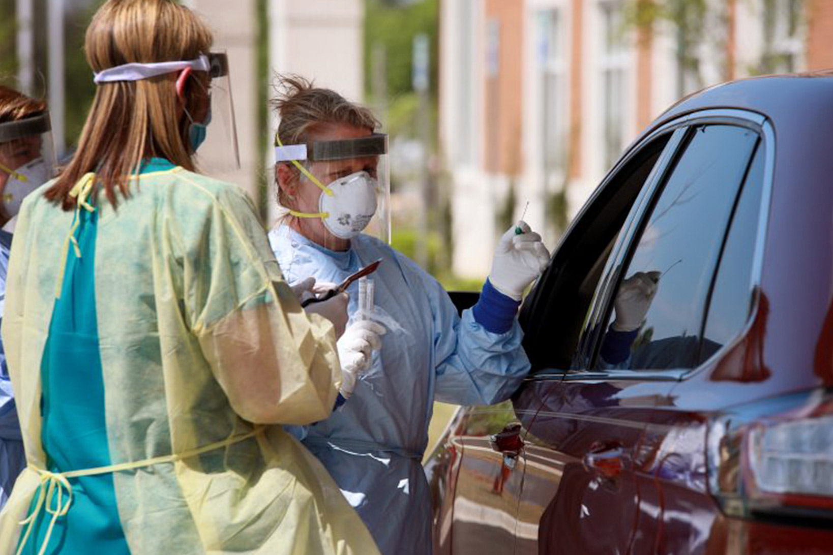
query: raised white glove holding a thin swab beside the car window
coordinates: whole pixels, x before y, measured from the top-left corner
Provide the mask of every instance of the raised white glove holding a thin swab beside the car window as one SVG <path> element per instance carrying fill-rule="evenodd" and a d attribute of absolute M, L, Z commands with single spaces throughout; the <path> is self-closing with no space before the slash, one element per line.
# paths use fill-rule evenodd
<path fill-rule="evenodd" d="M 521 235 L 515 233 L 516 227 L 523 230 Z M 536 280 L 549 263 L 550 251 L 541 242 L 541 235 L 532 231 L 525 221 L 519 221 L 497 241 L 489 281 L 503 295 L 521 300 L 526 286 Z"/>

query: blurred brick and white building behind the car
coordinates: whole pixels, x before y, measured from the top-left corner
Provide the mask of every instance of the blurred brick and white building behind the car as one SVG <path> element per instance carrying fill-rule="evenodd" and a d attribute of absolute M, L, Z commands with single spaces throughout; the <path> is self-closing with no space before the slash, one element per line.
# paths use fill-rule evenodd
<path fill-rule="evenodd" d="M 825 67 L 829 0 L 441 0 L 454 272 L 486 275 L 527 201 L 554 245 L 621 151 L 687 93 Z"/>

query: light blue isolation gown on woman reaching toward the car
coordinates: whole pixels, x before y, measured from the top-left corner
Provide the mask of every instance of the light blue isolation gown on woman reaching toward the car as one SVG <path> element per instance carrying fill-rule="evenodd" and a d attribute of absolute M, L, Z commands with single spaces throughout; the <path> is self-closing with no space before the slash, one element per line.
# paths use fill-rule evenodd
<path fill-rule="evenodd" d="M 372 368 L 327 420 L 292 429 L 335 478 L 382 553 L 431 553 L 431 498 L 421 458 L 435 400 L 494 404 L 529 372 L 522 331 L 491 333 L 462 318 L 442 286 L 412 260 L 368 235 L 343 252 L 327 250 L 287 225 L 269 234 L 291 284 L 307 276 L 339 283 L 382 259 L 371 276 L 374 319 L 387 328 Z M 357 310 L 358 285 L 350 290 Z"/>

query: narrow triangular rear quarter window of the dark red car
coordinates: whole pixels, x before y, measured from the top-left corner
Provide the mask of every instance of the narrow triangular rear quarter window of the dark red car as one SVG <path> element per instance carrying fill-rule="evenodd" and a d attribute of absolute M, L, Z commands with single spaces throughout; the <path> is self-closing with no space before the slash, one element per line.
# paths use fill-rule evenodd
<path fill-rule="evenodd" d="M 746 176 L 735 216 L 732 216 L 726 246 L 715 276 L 703 333 L 701 362 L 740 334 L 751 315 L 752 262 L 761 215 L 763 181 L 764 149 L 759 146 L 749 175 Z"/>

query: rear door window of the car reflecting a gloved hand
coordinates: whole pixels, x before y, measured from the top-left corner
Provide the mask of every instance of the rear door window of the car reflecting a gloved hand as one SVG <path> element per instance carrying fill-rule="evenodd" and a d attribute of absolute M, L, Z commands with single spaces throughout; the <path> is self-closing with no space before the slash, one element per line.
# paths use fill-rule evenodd
<path fill-rule="evenodd" d="M 597 367 L 696 365 L 711 280 L 757 141 L 740 126 L 691 129 L 620 274 Z"/>

